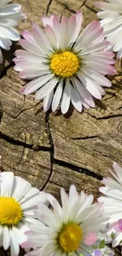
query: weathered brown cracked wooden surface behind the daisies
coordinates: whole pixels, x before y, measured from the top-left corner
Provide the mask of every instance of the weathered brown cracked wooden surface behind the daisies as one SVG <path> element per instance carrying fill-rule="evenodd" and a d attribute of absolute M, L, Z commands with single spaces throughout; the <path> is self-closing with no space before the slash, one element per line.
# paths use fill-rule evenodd
<path fill-rule="evenodd" d="M 42 26 L 43 15 L 69 17 L 83 11 L 83 28 L 96 17 L 94 0 L 14 0 L 23 6 L 27 20 L 20 22 L 19 30 L 31 31 L 31 21 Z M 78 113 L 72 109 L 63 116 L 60 110 L 44 113 L 42 102 L 32 95 L 20 95 L 24 81 L 13 70 L 13 45 L 5 54 L 0 80 L 0 154 L 2 170 L 13 171 L 35 187 L 59 198 L 60 187 L 68 191 L 75 184 L 99 195 L 103 176 L 109 176 L 113 161 L 122 158 L 122 91 L 120 61 L 117 74 L 111 77 L 113 87 L 106 89 L 96 108 Z M 0 255 L 6 256 L 3 251 Z M 23 254 L 21 254 L 23 255 Z M 117 255 L 117 254 L 116 254 Z"/>

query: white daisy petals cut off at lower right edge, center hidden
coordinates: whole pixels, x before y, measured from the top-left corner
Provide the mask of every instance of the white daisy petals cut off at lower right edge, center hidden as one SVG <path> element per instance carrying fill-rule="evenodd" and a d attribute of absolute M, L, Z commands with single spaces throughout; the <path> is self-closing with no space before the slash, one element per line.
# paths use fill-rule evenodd
<path fill-rule="evenodd" d="M 100 187 L 99 190 L 105 195 L 98 198 L 98 202 L 104 202 L 104 213 L 103 215 L 109 216 L 110 229 L 108 235 L 112 232 L 115 233 L 113 238 L 113 247 L 116 247 L 122 240 L 122 229 L 119 230 L 120 224 L 122 228 L 122 168 L 114 162 L 112 173 L 115 180 L 112 178 L 104 178 L 102 184 L 105 187 Z M 118 223 L 119 221 L 119 223 Z M 119 225 L 118 225 L 118 224 Z"/>

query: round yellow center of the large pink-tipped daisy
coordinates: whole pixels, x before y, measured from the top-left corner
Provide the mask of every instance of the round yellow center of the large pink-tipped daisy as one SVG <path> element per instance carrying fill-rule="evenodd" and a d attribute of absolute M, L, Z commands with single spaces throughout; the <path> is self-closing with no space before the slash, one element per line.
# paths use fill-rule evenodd
<path fill-rule="evenodd" d="M 79 69 L 79 59 L 70 51 L 54 54 L 50 61 L 50 68 L 57 76 L 73 76 Z"/>

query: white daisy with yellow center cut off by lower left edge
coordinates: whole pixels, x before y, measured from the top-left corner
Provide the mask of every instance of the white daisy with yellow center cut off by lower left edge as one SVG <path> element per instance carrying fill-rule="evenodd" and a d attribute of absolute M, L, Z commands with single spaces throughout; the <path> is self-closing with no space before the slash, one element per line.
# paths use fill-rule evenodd
<path fill-rule="evenodd" d="M 11 172 L 0 173 L 0 244 L 17 256 L 24 242 L 28 223 L 35 223 L 38 202 L 47 202 L 46 193 Z"/>

